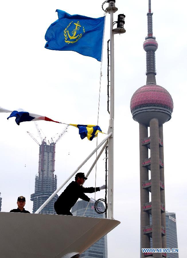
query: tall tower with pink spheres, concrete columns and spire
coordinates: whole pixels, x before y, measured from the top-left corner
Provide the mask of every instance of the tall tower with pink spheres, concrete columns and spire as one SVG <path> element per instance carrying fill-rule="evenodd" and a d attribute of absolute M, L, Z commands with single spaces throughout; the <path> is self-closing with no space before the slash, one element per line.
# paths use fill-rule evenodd
<path fill-rule="evenodd" d="M 166 253 L 143 253 L 142 248 L 150 248 L 151 238 L 153 248 L 166 248 L 163 124 L 171 119 L 173 111 L 170 93 L 156 84 L 155 51 L 158 43 L 153 36 L 152 15 L 149 0 L 148 35 L 143 43 L 146 51 L 147 81 L 146 85 L 135 91 L 130 101 L 133 119 L 139 123 L 141 258 L 166 257 Z"/>

